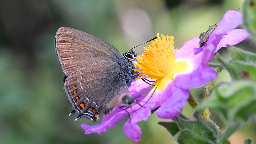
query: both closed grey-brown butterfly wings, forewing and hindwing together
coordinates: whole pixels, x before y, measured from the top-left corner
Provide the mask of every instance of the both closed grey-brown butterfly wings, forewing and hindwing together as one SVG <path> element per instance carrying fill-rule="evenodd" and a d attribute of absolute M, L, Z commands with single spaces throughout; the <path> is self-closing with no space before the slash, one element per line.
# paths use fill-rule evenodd
<path fill-rule="evenodd" d="M 126 60 L 111 44 L 74 28 L 59 28 L 55 48 L 63 76 L 63 88 L 79 119 L 98 117 L 111 109 L 107 103 L 125 87 L 122 68 Z"/>

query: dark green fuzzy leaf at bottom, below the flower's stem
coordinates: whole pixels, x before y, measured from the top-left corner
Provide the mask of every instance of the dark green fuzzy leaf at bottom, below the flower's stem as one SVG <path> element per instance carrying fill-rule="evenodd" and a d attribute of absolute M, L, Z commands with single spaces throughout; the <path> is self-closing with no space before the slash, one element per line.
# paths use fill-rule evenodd
<path fill-rule="evenodd" d="M 213 144 L 217 143 L 220 137 L 220 130 L 211 121 L 202 117 L 202 111 L 196 111 L 193 118 L 184 115 L 176 116 L 174 122 L 159 122 L 173 136 L 179 144 L 197 143 Z"/>

